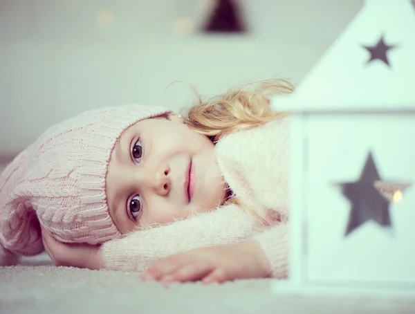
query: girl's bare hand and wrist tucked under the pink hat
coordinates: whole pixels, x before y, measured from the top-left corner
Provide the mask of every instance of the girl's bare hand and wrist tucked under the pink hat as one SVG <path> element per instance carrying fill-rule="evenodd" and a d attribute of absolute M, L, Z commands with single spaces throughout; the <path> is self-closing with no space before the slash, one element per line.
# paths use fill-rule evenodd
<path fill-rule="evenodd" d="M 79 268 L 100 269 L 100 246 L 84 243 L 62 243 L 53 238 L 42 228 L 44 248 L 56 266 L 73 266 Z"/>

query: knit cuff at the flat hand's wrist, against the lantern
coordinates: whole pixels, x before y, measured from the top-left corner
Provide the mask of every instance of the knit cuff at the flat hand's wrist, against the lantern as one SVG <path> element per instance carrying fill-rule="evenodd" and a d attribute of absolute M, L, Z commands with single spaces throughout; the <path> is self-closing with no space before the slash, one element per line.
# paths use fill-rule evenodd
<path fill-rule="evenodd" d="M 277 279 L 288 277 L 289 234 L 286 223 L 276 225 L 252 237 L 259 243 L 268 259 L 270 273 Z"/>

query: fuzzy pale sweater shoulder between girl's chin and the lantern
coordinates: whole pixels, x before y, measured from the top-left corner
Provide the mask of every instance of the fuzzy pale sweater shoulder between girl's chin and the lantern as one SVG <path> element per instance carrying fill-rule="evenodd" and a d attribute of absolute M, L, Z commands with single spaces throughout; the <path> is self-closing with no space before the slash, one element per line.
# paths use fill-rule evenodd
<path fill-rule="evenodd" d="M 289 126 L 277 119 L 221 139 L 216 160 L 234 195 L 270 225 L 289 214 Z"/>

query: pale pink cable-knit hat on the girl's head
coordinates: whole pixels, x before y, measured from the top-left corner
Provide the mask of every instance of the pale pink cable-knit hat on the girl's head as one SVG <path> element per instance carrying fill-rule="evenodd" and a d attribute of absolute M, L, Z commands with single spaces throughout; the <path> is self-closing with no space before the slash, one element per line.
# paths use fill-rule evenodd
<path fill-rule="evenodd" d="M 40 225 L 64 242 L 122 237 L 105 194 L 111 151 L 132 124 L 167 112 L 137 104 L 88 111 L 22 151 L 0 177 L 0 266 L 43 251 Z"/>

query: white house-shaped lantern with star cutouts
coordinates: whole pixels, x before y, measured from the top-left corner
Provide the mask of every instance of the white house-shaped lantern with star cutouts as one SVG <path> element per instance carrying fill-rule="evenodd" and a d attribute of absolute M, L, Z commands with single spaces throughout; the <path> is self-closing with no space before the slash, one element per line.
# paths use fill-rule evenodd
<path fill-rule="evenodd" d="M 292 95 L 291 270 L 275 290 L 415 293 L 415 12 L 367 0 Z"/>

